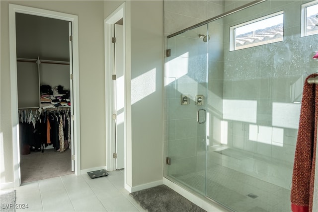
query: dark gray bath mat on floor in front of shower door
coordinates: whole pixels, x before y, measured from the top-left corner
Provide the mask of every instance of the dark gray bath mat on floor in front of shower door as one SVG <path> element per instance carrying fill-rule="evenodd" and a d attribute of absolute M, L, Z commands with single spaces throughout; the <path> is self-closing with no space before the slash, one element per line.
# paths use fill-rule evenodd
<path fill-rule="evenodd" d="M 149 212 L 205 212 L 165 185 L 133 192 L 130 195 Z"/>

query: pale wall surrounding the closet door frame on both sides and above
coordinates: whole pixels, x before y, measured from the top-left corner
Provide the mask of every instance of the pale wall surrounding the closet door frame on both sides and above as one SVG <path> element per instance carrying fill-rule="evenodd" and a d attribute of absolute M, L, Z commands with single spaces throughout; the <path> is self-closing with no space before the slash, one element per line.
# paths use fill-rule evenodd
<path fill-rule="evenodd" d="M 79 89 L 81 169 L 106 165 L 104 103 L 103 1 L 0 1 L 0 135 L 3 155 L 0 182 L 13 181 L 8 4 L 19 4 L 79 16 Z M 5 91 L 5 92 L 4 92 Z M 3 164 L 3 166 L 2 166 Z"/>

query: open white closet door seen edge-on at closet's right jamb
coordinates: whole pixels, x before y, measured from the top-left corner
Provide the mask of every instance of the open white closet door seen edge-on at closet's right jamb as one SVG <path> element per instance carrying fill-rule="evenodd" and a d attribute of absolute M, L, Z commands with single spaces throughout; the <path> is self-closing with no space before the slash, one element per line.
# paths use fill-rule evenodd
<path fill-rule="evenodd" d="M 72 171 L 75 171 L 75 149 L 74 149 L 74 98 L 73 98 L 73 43 L 72 43 L 72 22 L 69 22 L 69 35 L 70 35 L 70 93 L 71 93 L 71 160 L 72 160 Z"/>

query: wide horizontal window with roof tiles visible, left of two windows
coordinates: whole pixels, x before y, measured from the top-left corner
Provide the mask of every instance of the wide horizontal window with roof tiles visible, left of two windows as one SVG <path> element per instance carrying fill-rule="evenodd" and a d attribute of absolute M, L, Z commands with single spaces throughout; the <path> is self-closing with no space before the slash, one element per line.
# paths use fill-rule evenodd
<path fill-rule="evenodd" d="M 230 27 L 230 51 L 283 41 L 284 11 Z"/>

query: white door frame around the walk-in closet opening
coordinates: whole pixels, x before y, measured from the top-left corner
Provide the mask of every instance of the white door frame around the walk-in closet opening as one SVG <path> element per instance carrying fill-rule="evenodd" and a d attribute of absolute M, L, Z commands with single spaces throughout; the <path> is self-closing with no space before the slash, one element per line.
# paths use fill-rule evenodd
<path fill-rule="evenodd" d="M 19 147 L 19 120 L 18 120 L 18 92 L 17 92 L 17 69 L 16 69 L 16 31 L 15 13 L 36 15 L 72 22 L 73 31 L 73 115 L 75 147 L 75 174 L 80 174 L 80 134 L 79 134 L 79 26 L 78 16 L 56 12 L 46 9 L 39 9 L 29 6 L 22 6 L 9 3 L 9 54 L 10 54 L 10 94 L 11 94 L 11 121 L 12 121 L 12 148 L 13 148 L 13 170 L 14 186 L 21 185 L 20 171 L 20 147 Z"/>

